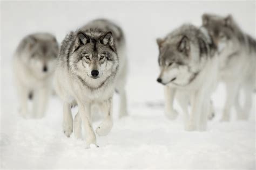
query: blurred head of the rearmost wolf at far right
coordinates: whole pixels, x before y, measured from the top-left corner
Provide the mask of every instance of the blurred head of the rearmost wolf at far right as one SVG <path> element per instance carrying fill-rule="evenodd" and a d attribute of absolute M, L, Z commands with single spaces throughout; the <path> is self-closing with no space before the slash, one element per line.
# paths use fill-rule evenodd
<path fill-rule="evenodd" d="M 202 21 L 219 52 L 225 48 L 232 48 L 235 40 L 243 39 L 231 15 L 220 17 L 205 13 Z"/>

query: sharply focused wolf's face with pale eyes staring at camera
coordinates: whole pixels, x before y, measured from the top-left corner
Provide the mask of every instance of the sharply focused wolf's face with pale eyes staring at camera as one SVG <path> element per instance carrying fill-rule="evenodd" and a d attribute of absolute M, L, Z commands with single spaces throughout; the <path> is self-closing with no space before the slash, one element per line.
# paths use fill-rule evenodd
<path fill-rule="evenodd" d="M 118 56 L 112 32 L 78 30 L 71 53 L 70 69 L 90 82 L 104 81 L 117 72 Z"/>

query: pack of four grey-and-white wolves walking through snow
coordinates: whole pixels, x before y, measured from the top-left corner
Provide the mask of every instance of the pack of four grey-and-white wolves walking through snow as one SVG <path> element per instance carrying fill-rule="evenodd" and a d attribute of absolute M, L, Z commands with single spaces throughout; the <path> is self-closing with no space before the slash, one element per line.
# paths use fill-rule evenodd
<path fill-rule="evenodd" d="M 176 100 L 183 112 L 184 129 L 205 131 L 207 120 L 214 117 L 211 95 L 218 83 L 224 82 L 221 121 L 230 121 L 232 107 L 237 119 L 248 119 L 256 87 L 256 40 L 244 33 L 231 15 L 205 13 L 200 27 L 181 25 L 157 38 L 156 45 L 157 82 L 164 87 L 167 118 L 176 119 Z M 63 103 L 65 136 L 73 132 L 76 138 L 85 138 L 87 148 L 98 146 L 96 133 L 105 136 L 113 126 L 115 92 L 120 97 L 119 118 L 128 115 L 127 60 L 124 32 L 107 19 L 92 20 L 71 31 L 60 46 L 50 33 L 29 34 L 19 43 L 13 60 L 19 113 L 23 118 L 42 118 L 50 96 L 57 94 Z M 78 112 L 73 118 L 75 106 Z M 96 130 L 92 127 L 93 107 L 102 112 Z"/>

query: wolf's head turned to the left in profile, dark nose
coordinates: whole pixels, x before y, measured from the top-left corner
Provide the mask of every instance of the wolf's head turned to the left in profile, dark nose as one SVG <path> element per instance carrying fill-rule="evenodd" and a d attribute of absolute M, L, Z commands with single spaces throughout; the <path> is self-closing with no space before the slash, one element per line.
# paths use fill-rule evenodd
<path fill-rule="evenodd" d="M 162 84 L 186 86 L 192 82 L 209 53 L 203 33 L 192 25 L 183 25 L 164 39 L 157 39 L 159 47 L 158 63 Z"/>

